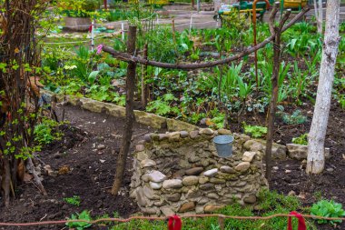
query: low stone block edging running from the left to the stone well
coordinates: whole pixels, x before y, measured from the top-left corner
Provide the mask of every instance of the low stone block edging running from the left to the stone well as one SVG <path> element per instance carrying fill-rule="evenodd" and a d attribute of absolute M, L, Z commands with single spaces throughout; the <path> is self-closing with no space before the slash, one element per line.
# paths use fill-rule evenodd
<path fill-rule="evenodd" d="M 64 101 L 64 95 L 57 95 L 46 90 L 43 90 L 43 92 L 44 94 L 55 96 L 58 102 Z M 66 95 L 65 99 L 70 105 L 80 106 L 81 108 L 94 113 L 105 113 L 106 115 L 112 115 L 114 117 L 125 116 L 125 107 L 120 105 L 100 102 L 91 98 L 79 97 L 76 95 Z M 193 131 L 199 129 L 199 127 L 196 125 L 191 125 L 189 123 L 172 118 L 166 118 L 161 115 L 146 113 L 141 110 L 134 110 L 134 115 L 137 123 L 148 125 L 154 129 L 166 128 L 168 131 Z"/>

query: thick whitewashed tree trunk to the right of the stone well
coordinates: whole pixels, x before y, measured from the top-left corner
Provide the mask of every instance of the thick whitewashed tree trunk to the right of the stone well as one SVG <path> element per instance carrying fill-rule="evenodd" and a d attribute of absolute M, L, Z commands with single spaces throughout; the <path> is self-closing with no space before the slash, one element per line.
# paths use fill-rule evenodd
<path fill-rule="evenodd" d="M 325 165 L 324 142 L 330 114 L 334 68 L 340 41 L 339 19 L 340 0 L 328 0 L 318 93 L 311 122 L 311 132 L 308 136 L 308 174 L 320 174 Z"/>

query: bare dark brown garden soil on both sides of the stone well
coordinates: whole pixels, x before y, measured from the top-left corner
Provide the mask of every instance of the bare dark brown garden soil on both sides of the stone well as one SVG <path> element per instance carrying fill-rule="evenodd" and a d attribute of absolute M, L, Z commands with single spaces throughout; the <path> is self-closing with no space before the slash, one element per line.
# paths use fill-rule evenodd
<path fill-rule="evenodd" d="M 281 120 L 277 120 L 275 142 L 288 144 L 291 143 L 292 137 L 309 131 L 312 106 L 304 105 L 302 112 L 308 115 L 308 121 L 304 125 L 283 125 Z M 59 114 L 61 115 L 61 111 Z M 90 210 L 93 216 L 109 215 L 110 217 L 113 215 L 128 217 L 139 211 L 133 199 L 129 197 L 132 174 L 130 155 L 123 189 L 118 195 L 110 194 L 124 120 L 109 115 L 94 114 L 74 106 L 65 108 L 65 117 L 69 124 L 60 127 L 64 133 L 62 140 L 44 147 L 35 158 L 35 162 L 42 165 L 42 168 L 44 165 L 50 165 L 58 172 L 58 175 L 43 173 L 43 183 L 48 195 L 40 195 L 32 181 L 20 185 L 11 207 L 6 210 L 1 204 L 0 222 L 62 220 L 83 210 Z M 233 132 L 242 132 L 242 121 L 247 124 L 264 125 L 265 116 L 244 115 L 237 125 L 232 124 Z M 141 140 L 143 135 L 151 132 L 153 129 L 150 127 L 135 124 L 133 145 Z M 345 206 L 345 113 L 338 104 L 331 107 L 326 146 L 330 147 L 331 157 L 323 174 L 306 175 L 301 161 L 277 161 L 274 162 L 275 169 L 272 172 L 270 188 L 285 195 L 290 193 L 299 196 L 303 205 L 311 205 L 320 197 L 324 197 L 334 199 Z M 74 195 L 80 197 L 79 206 L 64 201 L 65 197 Z M 0 201 L 3 203 L 1 196 Z M 44 225 L 31 228 L 0 227 L 0 229 L 68 229 L 68 227 Z M 107 227 L 93 226 L 92 229 L 107 229 Z M 334 228 L 320 225 L 320 229 Z M 345 223 L 337 229 L 345 229 Z"/>

